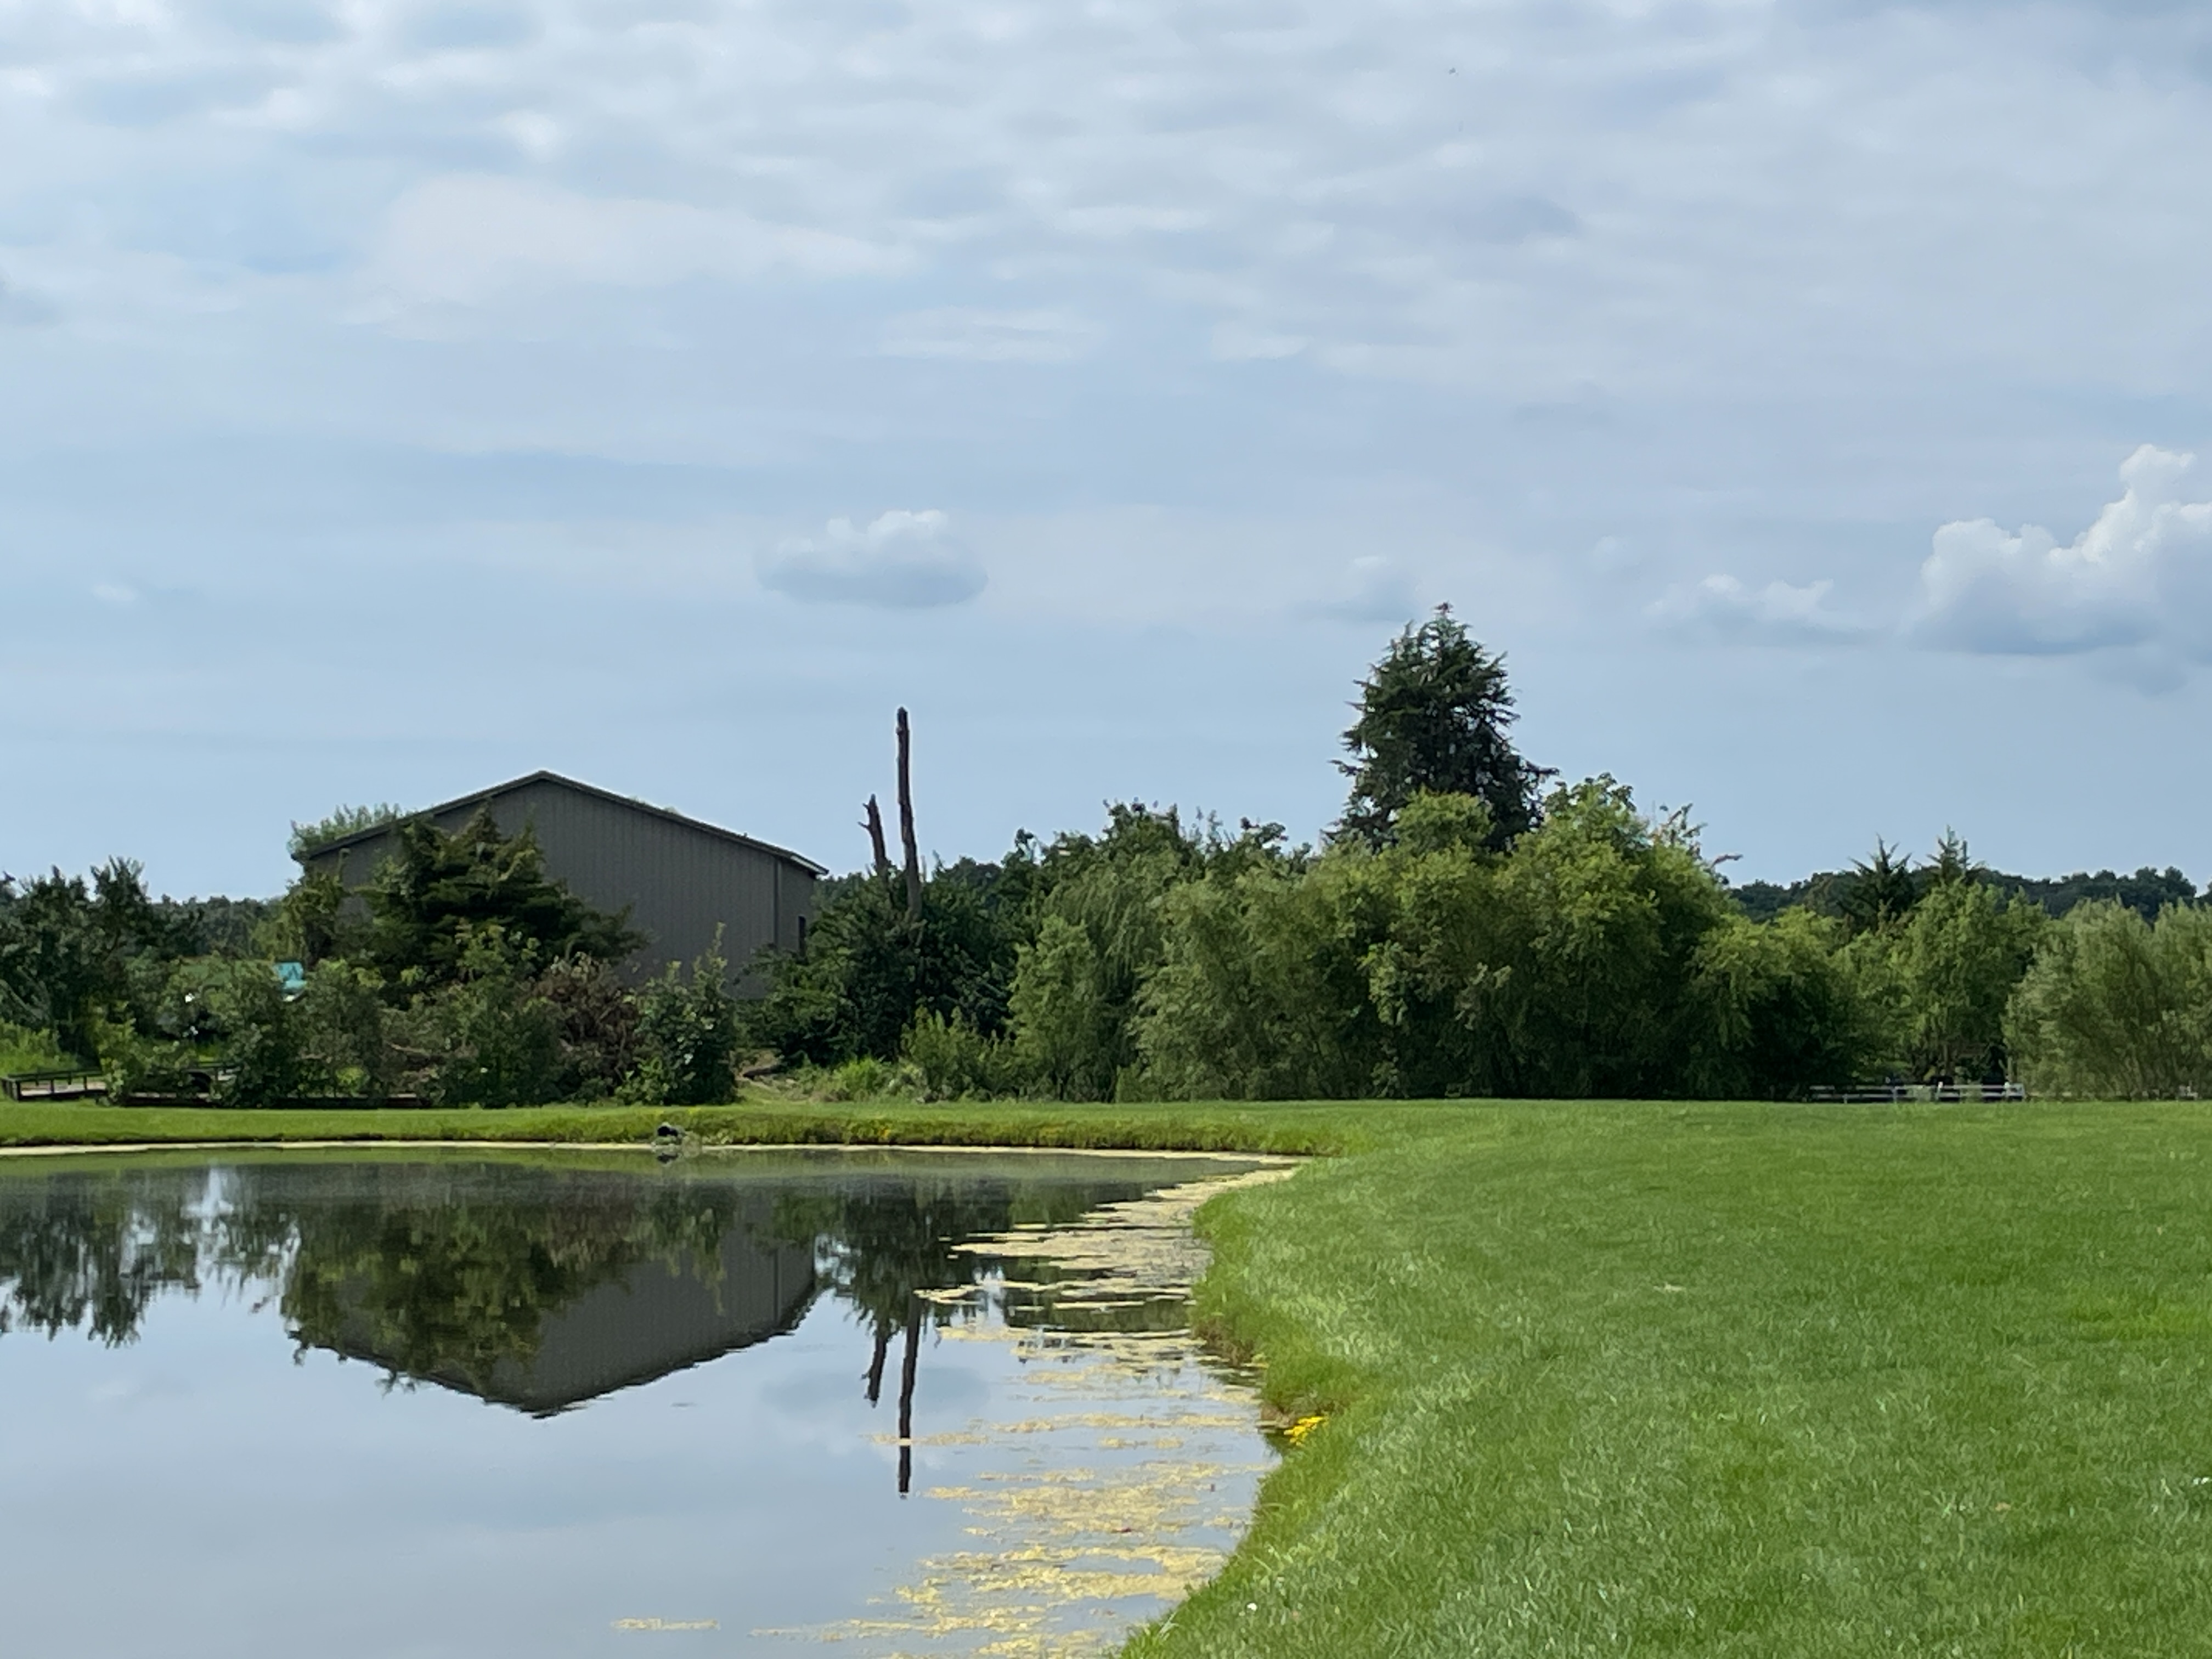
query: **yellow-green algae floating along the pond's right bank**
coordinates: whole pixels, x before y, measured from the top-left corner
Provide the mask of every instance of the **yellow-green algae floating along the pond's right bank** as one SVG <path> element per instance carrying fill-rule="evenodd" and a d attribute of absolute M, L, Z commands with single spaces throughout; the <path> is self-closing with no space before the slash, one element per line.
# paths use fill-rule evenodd
<path fill-rule="evenodd" d="M 914 1444 L 1022 1455 L 925 1493 L 967 1509 L 973 1548 L 922 1559 L 876 1617 L 781 1635 L 885 1659 L 1097 1655 L 1212 1577 L 1243 1533 L 1239 1495 L 1265 1467 L 1265 1442 L 1256 1391 L 1190 1332 L 1190 1287 L 1206 1267 L 1190 1219 L 1217 1192 L 1287 1175 L 1272 1166 L 1188 1181 L 1075 1225 L 960 1245 L 1035 1263 L 1024 1279 L 931 1296 L 975 1310 L 947 1340 L 1013 1347 L 1037 1409 Z M 1053 1409 L 1071 1400 L 1084 1409 Z M 1237 1447 L 1234 1460 L 1192 1458 L 1192 1440 Z M 1093 1455 L 1128 1451 L 1152 1455 Z"/>

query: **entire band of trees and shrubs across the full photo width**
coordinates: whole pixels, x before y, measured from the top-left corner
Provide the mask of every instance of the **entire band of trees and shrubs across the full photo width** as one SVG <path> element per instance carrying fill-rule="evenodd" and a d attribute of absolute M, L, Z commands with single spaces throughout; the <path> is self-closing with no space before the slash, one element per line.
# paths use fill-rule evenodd
<path fill-rule="evenodd" d="M 307 874 L 177 907 L 126 863 L 0 880 L 0 1066 L 237 1104 L 712 1102 L 748 1057 L 847 1097 L 2212 1091 L 2212 911 L 2179 872 L 2064 891 L 1947 836 L 1732 889 L 1686 814 L 1557 781 L 1511 726 L 1504 664 L 1438 611 L 1360 684 L 1321 847 L 1121 803 L 925 872 L 900 721 L 905 863 L 869 801 L 872 867 L 825 883 L 803 956 L 750 964 L 750 1004 L 719 958 L 628 984 L 624 918 L 489 816 L 400 818 L 354 898 Z"/>

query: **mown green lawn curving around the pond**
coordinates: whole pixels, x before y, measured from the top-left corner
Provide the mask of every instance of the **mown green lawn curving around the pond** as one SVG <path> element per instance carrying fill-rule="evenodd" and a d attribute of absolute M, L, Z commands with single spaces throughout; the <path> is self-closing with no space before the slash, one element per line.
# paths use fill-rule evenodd
<path fill-rule="evenodd" d="M 659 1113 L 263 1130 L 626 1139 Z M 1135 1655 L 2212 1652 L 2212 1106 L 717 1108 L 1343 1152 L 1203 1214 L 1325 1411 Z M 405 1121 L 403 1121 L 405 1119 Z M 13 1139 L 230 1115 L 0 1108 Z"/>

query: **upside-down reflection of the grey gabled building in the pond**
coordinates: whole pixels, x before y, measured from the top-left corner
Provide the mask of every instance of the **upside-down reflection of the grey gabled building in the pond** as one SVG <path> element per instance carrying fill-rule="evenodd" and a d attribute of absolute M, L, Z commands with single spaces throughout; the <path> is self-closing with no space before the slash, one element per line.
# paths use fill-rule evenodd
<path fill-rule="evenodd" d="M 341 1287 L 358 1310 L 361 1285 Z M 383 1352 L 376 1323 L 347 1312 L 334 1352 L 531 1416 L 553 1416 L 615 1389 L 765 1343 L 799 1325 L 814 1298 L 812 1245 L 763 1245 L 737 1225 L 712 1259 L 688 1250 L 675 1263 L 633 1261 L 611 1279 L 549 1307 L 533 1347 L 489 1367 L 438 1363 L 409 1369 Z"/>

